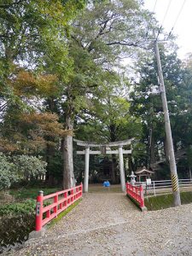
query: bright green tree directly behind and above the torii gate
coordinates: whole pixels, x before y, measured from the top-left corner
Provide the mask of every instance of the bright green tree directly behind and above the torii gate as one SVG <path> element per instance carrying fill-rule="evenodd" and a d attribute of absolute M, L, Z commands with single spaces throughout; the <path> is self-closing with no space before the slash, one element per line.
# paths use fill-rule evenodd
<path fill-rule="evenodd" d="M 105 81 L 104 81 L 105 78 Z M 130 84 L 118 73 L 102 76 L 103 85 L 90 97 L 90 108 L 79 113 L 77 136 L 83 140 L 108 143 L 141 137 L 140 119 L 130 113 Z M 112 155 L 112 182 L 116 183 L 117 159 Z M 94 166 L 95 168 L 95 166 Z M 95 170 L 95 169 L 94 169 Z"/>

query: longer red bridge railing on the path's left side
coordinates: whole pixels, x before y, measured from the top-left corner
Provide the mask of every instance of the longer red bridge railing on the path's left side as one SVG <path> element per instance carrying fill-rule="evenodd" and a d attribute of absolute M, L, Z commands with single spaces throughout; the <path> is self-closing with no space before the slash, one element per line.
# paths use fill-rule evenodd
<path fill-rule="evenodd" d="M 66 189 L 54 194 L 45 195 L 43 191 L 39 191 L 37 197 L 36 207 L 36 231 L 42 230 L 42 227 L 47 224 L 52 218 L 56 218 L 57 215 L 67 207 L 71 206 L 75 201 L 83 194 L 83 185 L 80 184 L 72 189 Z M 44 207 L 44 201 L 48 201 L 49 205 Z M 51 202 L 52 201 L 52 202 Z"/>

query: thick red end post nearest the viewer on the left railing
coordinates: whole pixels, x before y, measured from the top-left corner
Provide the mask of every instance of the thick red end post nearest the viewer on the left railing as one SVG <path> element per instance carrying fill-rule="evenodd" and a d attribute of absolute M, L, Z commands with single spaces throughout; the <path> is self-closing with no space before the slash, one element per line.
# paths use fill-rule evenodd
<path fill-rule="evenodd" d="M 39 191 L 37 196 L 36 205 L 36 220 L 35 220 L 35 230 L 40 231 L 43 226 L 43 202 L 44 202 L 44 191 Z"/>

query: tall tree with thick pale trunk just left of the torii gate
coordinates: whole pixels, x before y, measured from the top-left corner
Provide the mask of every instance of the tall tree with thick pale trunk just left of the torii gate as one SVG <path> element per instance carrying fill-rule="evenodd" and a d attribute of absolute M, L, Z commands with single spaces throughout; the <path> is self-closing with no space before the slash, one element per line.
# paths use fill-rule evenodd
<path fill-rule="evenodd" d="M 93 93 L 95 86 L 102 85 L 101 70 L 113 71 L 123 66 L 122 57 L 129 56 L 145 33 L 148 14 L 142 9 L 142 1 L 95 1 L 73 21 L 69 42 L 74 63 L 74 77 L 67 84 L 66 123 L 73 128 L 75 100 Z M 77 90 L 78 89 L 78 90 Z M 73 175 L 72 138 L 66 137 L 64 165 L 67 177 Z M 71 165 L 68 165 L 70 160 Z M 71 168 L 71 169 L 70 169 Z M 66 174 L 65 174 L 66 176 Z M 66 181 L 67 183 L 67 181 Z M 71 181 L 68 178 L 68 184 Z M 70 186 L 68 185 L 67 186 Z"/>

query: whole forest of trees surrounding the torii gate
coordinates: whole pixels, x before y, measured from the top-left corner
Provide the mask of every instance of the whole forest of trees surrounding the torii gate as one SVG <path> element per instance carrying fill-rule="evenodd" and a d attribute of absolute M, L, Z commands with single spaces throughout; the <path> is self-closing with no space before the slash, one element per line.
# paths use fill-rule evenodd
<path fill-rule="evenodd" d="M 177 171 L 191 177 L 192 54 L 179 60 L 143 1 L 0 1 L 0 20 L 0 189 L 42 174 L 63 188 L 81 182 L 73 137 L 134 137 L 126 176 L 166 159 L 154 178 L 170 178 L 153 32 L 168 39 L 159 47 Z M 108 161 L 118 183 L 115 155 L 91 156 L 93 181 Z"/>

